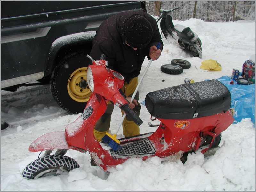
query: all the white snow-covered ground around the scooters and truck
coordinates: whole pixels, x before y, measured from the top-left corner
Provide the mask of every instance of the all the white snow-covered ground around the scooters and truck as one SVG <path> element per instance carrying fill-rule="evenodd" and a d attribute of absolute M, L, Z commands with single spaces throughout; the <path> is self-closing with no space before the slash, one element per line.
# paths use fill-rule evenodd
<path fill-rule="evenodd" d="M 241 70 L 244 61 L 255 53 L 254 21 L 212 23 L 190 19 L 173 23 L 189 26 L 199 35 L 202 59 L 182 51 L 174 40 L 163 39 L 162 55 L 152 62 L 140 86 L 140 102 L 148 92 L 184 84 L 184 78 L 197 82 L 231 76 L 233 68 Z M 180 75 L 161 72 L 161 65 L 175 58 L 188 60 L 191 68 Z M 201 70 L 201 62 L 207 59 L 217 60 L 222 71 Z M 139 78 L 147 64 L 146 58 Z M 30 143 L 45 133 L 63 131 L 79 115 L 70 115 L 58 107 L 49 85 L 20 88 L 17 92 L 1 91 L 1 120 L 10 124 L 1 131 L 1 190 L 255 191 L 255 127 L 249 118 L 232 124 L 222 133 L 220 149 L 215 155 L 204 158 L 200 152 L 189 154 L 185 164 L 179 158 L 162 163 L 158 157 L 146 161 L 131 158 L 108 176 L 99 167 L 90 166 L 89 153 L 68 150 L 66 155 L 74 158 L 80 168 L 66 175 L 34 180 L 23 178 L 24 167 L 39 155 L 39 152 L 28 151 Z M 111 131 L 114 132 L 121 120 L 120 110 L 115 107 L 112 116 Z M 150 115 L 143 105 L 140 118 L 144 122 L 140 133 L 155 131 L 156 128 L 148 127 Z M 121 129 L 118 134 L 122 134 Z"/>

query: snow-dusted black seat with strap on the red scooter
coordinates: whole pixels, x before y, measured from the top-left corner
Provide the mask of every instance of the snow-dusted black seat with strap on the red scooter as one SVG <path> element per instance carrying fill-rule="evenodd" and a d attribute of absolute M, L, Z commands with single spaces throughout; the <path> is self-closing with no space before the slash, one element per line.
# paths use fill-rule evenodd
<path fill-rule="evenodd" d="M 191 119 L 229 110 L 231 94 L 218 80 L 183 84 L 150 92 L 146 108 L 162 119 Z"/>

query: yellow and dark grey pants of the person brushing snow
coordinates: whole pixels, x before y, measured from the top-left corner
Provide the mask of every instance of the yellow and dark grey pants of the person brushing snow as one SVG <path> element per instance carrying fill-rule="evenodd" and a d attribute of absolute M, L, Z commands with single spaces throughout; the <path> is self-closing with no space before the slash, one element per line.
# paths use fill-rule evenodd
<path fill-rule="evenodd" d="M 133 78 L 129 84 L 124 83 L 124 87 L 122 87 L 122 91 L 125 94 L 125 97 L 132 97 L 133 92 L 135 91 L 136 87 L 138 85 L 138 77 Z M 135 95 L 135 100 L 139 100 L 139 92 L 136 93 Z M 133 108 L 135 113 L 140 115 L 140 103 L 138 102 L 138 105 Z M 93 133 L 94 137 L 98 140 L 101 141 L 102 137 L 105 136 L 106 132 L 108 132 L 109 127 L 110 127 L 110 120 L 111 120 L 111 114 L 114 109 L 114 104 L 108 102 L 107 109 L 105 113 L 100 117 L 100 119 L 96 122 L 96 125 L 94 127 Z M 124 114 L 123 111 L 122 115 Z M 130 119 L 128 116 L 124 118 L 123 121 L 123 134 L 125 137 L 131 137 L 134 135 L 139 135 L 140 134 L 140 129 L 137 124 L 134 123 L 132 119 Z"/>

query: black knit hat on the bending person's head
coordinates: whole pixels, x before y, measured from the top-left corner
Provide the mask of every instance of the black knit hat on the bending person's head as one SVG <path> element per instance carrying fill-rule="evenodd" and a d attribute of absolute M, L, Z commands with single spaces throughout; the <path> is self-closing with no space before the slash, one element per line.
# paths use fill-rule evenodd
<path fill-rule="evenodd" d="M 142 15 L 132 15 L 123 24 L 123 39 L 134 48 L 142 48 L 149 44 L 153 35 L 150 22 Z"/>

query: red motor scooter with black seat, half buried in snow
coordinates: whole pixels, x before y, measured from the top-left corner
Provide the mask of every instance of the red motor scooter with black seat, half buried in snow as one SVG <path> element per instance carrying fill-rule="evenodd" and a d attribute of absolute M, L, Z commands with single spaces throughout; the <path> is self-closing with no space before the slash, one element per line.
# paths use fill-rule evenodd
<path fill-rule="evenodd" d="M 121 149 L 115 151 L 106 143 L 98 142 L 93 134 L 97 120 L 104 114 L 108 101 L 121 108 L 133 121 L 141 125 L 140 117 L 128 107 L 129 102 L 119 92 L 124 77 L 106 66 L 105 60 L 93 60 L 87 69 L 87 82 L 92 95 L 83 113 L 65 131 L 55 131 L 37 138 L 29 146 L 31 152 L 44 155 L 25 167 L 23 177 L 34 179 L 58 175 L 78 168 L 79 164 L 65 156 L 68 149 L 90 153 L 95 163 L 108 174 L 118 164 L 131 157 L 146 160 L 158 156 L 168 158 L 180 153 L 200 151 L 203 154 L 218 147 L 221 132 L 233 123 L 231 95 L 217 80 L 182 84 L 149 92 L 145 106 L 151 121 L 160 124 L 155 132 L 121 138 Z M 55 154 L 52 154 L 52 151 Z M 39 154 L 40 155 L 40 154 Z M 183 161 L 184 158 L 183 158 Z"/>

